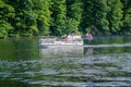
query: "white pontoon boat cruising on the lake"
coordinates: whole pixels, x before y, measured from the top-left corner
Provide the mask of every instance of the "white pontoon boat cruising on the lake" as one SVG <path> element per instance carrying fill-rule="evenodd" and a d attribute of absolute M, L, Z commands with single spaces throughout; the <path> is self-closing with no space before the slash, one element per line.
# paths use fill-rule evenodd
<path fill-rule="evenodd" d="M 40 38 L 39 46 L 83 46 L 81 36 L 68 36 L 66 39 L 57 40 L 56 38 Z"/>

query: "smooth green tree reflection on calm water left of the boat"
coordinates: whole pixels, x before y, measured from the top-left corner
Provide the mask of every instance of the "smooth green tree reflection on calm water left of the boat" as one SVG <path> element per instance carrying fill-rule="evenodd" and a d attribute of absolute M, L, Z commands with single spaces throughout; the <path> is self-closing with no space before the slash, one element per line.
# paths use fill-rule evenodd
<path fill-rule="evenodd" d="M 0 39 L 1 60 L 28 60 L 38 58 L 36 38 Z"/>

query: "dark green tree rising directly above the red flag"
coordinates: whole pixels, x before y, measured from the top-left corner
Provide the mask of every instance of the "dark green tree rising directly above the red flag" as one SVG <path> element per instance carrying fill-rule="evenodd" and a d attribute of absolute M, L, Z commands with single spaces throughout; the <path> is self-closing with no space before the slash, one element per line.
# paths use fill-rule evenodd
<path fill-rule="evenodd" d="M 86 33 L 93 27 L 99 32 L 108 30 L 108 20 L 106 18 L 108 7 L 106 0 L 83 0 L 83 32 Z"/>

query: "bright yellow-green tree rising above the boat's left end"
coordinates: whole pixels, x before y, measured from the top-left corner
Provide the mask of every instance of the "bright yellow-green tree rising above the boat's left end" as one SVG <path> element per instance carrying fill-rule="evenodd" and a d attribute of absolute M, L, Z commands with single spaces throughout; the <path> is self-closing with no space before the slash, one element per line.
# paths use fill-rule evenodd
<path fill-rule="evenodd" d="M 34 7 L 33 11 L 37 14 L 37 28 L 40 35 L 49 35 L 49 27 L 50 27 L 50 0 L 33 0 Z"/>

